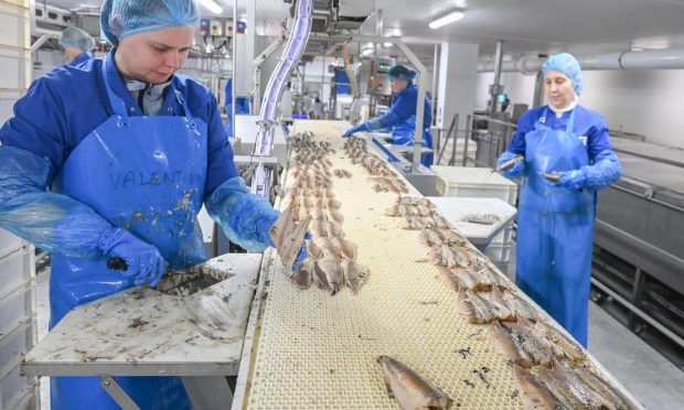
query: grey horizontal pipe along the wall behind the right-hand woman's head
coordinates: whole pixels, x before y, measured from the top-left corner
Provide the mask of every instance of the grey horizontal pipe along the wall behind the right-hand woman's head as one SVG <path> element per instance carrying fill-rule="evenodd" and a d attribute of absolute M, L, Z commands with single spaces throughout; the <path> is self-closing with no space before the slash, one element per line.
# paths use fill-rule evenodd
<path fill-rule="evenodd" d="M 622 51 L 595 55 L 576 56 L 583 69 L 682 69 L 684 68 L 684 50 L 646 50 Z M 502 62 L 501 71 L 520 72 L 533 75 L 542 69 L 546 57 L 522 56 L 517 61 Z M 495 69 L 495 62 L 481 62 L 478 73 Z"/>

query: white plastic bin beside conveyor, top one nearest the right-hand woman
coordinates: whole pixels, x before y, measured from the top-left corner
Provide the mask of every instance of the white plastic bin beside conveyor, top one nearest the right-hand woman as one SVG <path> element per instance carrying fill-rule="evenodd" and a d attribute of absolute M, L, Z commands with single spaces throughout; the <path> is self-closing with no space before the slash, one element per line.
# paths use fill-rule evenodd
<path fill-rule="evenodd" d="M 431 170 L 439 196 L 494 197 L 515 205 L 517 184 L 491 169 L 435 165 Z"/>

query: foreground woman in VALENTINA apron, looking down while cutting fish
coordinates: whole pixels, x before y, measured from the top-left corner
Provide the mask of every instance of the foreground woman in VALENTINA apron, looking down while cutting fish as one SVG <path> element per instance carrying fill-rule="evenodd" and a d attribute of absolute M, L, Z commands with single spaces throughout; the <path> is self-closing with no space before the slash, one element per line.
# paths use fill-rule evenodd
<path fill-rule="evenodd" d="M 106 0 L 106 60 L 38 78 L 0 129 L 0 227 L 53 252 L 51 328 L 77 305 L 205 260 L 203 204 L 232 241 L 272 246 L 279 212 L 238 175 L 216 99 L 174 74 L 199 17 L 194 0 Z M 110 258 L 128 269 L 108 269 Z M 142 409 L 191 407 L 178 377 L 117 382 Z M 118 409 L 97 377 L 51 384 L 55 410 Z"/>

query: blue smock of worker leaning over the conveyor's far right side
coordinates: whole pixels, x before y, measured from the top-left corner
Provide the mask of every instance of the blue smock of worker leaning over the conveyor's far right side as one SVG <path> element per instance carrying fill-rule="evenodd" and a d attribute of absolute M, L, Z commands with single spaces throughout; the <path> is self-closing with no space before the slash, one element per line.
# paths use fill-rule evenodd
<path fill-rule="evenodd" d="M 392 143 L 395 145 L 412 145 L 416 130 L 416 107 L 418 99 L 418 87 L 409 84 L 404 90 L 398 93 L 392 101 L 389 112 L 372 118 L 366 123 L 368 130 L 382 128 L 392 129 Z M 430 125 L 432 123 L 432 104 L 425 97 L 425 111 L 423 116 L 423 147 L 432 148 L 432 134 Z M 420 163 L 426 166 L 432 165 L 432 154 L 423 155 Z"/>

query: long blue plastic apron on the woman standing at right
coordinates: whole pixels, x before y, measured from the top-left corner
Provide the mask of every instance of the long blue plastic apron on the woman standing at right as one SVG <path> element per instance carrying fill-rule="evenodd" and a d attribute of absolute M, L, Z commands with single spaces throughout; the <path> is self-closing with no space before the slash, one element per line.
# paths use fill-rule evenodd
<path fill-rule="evenodd" d="M 584 346 L 587 345 L 595 191 L 556 186 L 539 173 L 589 164 L 573 132 L 545 126 L 548 108 L 525 134 L 525 175 L 517 214 L 516 284 Z"/>

